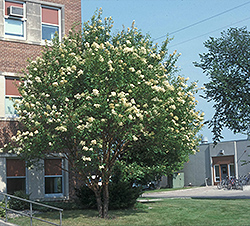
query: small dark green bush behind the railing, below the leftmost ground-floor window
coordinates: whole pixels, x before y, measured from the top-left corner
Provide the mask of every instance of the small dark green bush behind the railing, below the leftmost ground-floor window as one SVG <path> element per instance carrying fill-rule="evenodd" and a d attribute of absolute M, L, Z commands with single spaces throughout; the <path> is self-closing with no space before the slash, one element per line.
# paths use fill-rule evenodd
<path fill-rule="evenodd" d="M 13 195 L 22 199 L 27 199 L 27 200 L 29 200 L 30 198 L 30 194 L 26 194 L 24 191 L 16 191 L 14 192 Z M 30 208 L 30 204 L 28 202 L 25 202 L 16 198 L 10 198 L 9 206 L 10 206 L 10 209 L 14 209 L 14 210 L 24 210 L 24 209 Z"/>

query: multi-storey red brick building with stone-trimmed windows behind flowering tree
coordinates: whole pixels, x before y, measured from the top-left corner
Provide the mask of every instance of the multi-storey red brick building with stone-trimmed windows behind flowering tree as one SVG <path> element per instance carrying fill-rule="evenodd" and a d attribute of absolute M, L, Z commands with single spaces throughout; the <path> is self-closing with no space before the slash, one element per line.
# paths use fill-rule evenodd
<path fill-rule="evenodd" d="M 62 38 L 80 22 L 81 0 L 0 0 L 0 148 L 17 129 L 13 101 L 21 96 L 15 83 L 27 59 L 36 58 L 55 32 Z M 0 191 L 23 190 L 33 199 L 68 198 L 69 177 L 62 170 L 67 162 L 46 159 L 43 166 L 28 170 L 24 161 L 1 153 Z"/>

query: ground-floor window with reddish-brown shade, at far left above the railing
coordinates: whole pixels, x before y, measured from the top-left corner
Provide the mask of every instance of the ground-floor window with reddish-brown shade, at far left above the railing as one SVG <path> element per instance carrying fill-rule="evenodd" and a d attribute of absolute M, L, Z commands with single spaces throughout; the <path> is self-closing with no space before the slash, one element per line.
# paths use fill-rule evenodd
<path fill-rule="evenodd" d="M 20 159 L 6 159 L 7 193 L 26 192 L 25 162 Z"/>

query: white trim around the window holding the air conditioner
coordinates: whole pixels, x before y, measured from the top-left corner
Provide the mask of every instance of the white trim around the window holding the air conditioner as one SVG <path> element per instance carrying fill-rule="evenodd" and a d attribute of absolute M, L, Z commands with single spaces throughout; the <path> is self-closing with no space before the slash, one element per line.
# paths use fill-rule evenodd
<path fill-rule="evenodd" d="M 4 37 L 5 38 L 9 38 L 9 39 L 18 39 L 18 40 L 26 40 L 26 21 L 27 21 L 27 18 L 26 18 L 26 3 L 25 2 L 22 2 L 22 1 L 15 1 L 15 0 L 9 0 L 8 2 L 15 2 L 15 3 L 20 3 L 20 4 L 23 4 L 23 18 L 13 18 L 11 16 L 7 16 L 5 15 L 5 1 L 3 1 L 3 14 L 4 14 Z M 8 35 L 8 34 L 5 34 L 5 19 L 16 19 L 16 20 L 19 20 L 19 21 L 23 21 L 23 37 L 20 37 L 20 36 L 16 36 L 16 35 Z"/>

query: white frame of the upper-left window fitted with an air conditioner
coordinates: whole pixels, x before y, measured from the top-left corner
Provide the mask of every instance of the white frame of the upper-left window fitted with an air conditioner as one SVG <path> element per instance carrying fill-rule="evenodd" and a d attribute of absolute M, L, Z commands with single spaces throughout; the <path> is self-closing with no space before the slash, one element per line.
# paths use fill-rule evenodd
<path fill-rule="evenodd" d="M 14 17 L 14 16 L 8 16 L 5 15 L 5 4 L 6 2 L 13 2 L 13 3 L 18 3 L 23 5 L 23 17 Z M 5 38 L 10 38 L 10 39 L 19 39 L 19 40 L 26 40 L 26 3 L 23 1 L 16 1 L 16 0 L 4 0 L 3 1 L 3 13 L 4 13 L 4 37 Z M 6 34 L 6 20 L 17 20 L 22 22 L 22 29 L 23 29 L 23 35 L 16 35 L 16 34 Z"/>

